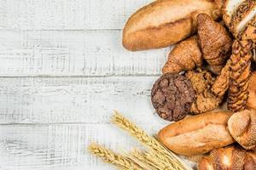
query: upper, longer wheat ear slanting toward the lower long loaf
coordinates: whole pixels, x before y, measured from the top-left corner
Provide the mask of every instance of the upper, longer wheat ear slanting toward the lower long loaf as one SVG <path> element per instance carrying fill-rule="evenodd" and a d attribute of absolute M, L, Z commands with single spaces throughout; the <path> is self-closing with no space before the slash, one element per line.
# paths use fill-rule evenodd
<path fill-rule="evenodd" d="M 124 116 L 119 114 L 119 112 L 114 111 L 112 117 L 112 122 L 118 127 L 121 127 L 125 131 L 128 131 L 131 136 L 138 139 L 142 144 L 148 146 L 150 150 L 153 150 L 157 154 L 155 156 L 158 159 L 163 159 L 167 161 L 174 169 L 183 170 L 188 169 L 192 170 L 191 167 L 187 166 L 181 159 L 179 159 L 172 151 L 166 150 L 166 148 L 160 144 L 160 142 L 152 136 L 149 136 L 143 131 L 140 127 L 137 127 L 135 124 L 127 120 Z"/>

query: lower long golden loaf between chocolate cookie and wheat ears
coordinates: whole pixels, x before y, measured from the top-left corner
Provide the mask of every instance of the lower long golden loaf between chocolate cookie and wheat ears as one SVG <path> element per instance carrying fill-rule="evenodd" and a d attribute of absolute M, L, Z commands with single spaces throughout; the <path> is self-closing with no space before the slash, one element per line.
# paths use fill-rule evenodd
<path fill-rule="evenodd" d="M 161 129 L 158 139 L 180 155 L 204 154 L 234 142 L 227 129 L 230 116 L 224 111 L 190 116 Z"/>

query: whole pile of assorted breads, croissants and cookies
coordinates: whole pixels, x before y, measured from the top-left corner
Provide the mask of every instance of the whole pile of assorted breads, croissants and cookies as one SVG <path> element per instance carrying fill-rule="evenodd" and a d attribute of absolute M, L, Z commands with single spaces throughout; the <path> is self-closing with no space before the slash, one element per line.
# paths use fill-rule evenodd
<path fill-rule="evenodd" d="M 174 121 L 158 139 L 183 156 L 210 153 L 199 169 L 256 169 L 256 1 L 158 0 L 123 31 L 131 51 L 174 43 L 151 92 Z"/>

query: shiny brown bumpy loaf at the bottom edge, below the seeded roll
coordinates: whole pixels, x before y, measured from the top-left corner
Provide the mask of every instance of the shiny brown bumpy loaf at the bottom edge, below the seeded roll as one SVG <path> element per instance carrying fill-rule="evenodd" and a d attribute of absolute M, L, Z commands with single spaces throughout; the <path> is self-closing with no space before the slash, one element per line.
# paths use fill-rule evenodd
<path fill-rule="evenodd" d="M 255 170 L 256 152 L 243 150 L 237 145 L 230 145 L 212 150 L 209 156 L 201 159 L 199 170 Z"/>

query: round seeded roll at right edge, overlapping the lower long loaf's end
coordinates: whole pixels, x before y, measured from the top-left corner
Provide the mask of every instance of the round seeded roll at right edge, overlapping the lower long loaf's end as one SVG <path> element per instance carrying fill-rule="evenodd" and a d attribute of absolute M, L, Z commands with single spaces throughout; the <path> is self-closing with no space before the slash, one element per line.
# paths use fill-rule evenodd
<path fill-rule="evenodd" d="M 236 112 L 228 122 L 230 134 L 246 150 L 256 149 L 256 110 Z"/>

